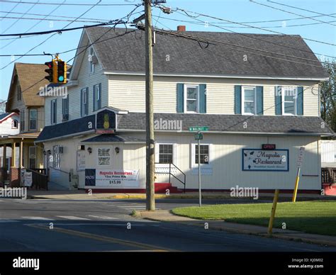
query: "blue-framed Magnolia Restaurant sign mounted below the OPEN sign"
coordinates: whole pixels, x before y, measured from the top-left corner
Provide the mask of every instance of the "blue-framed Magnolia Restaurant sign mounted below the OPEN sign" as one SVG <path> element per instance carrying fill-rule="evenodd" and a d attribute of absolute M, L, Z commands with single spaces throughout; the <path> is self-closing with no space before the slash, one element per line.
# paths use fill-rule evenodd
<path fill-rule="evenodd" d="M 289 171 L 289 150 L 242 150 L 242 171 Z"/>

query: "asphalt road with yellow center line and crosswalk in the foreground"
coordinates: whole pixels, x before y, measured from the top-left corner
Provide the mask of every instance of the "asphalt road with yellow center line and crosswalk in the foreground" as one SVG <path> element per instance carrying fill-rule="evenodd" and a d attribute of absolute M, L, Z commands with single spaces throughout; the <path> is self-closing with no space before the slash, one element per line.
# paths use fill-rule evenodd
<path fill-rule="evenodd" d="M 204 200 L 203 203 L 224 201 Z M 236 200 L 225 203 L 237 202 Z M 240 203 L 251 201 L 240 201 Z M 157 208 L 194 206 L 197 200 L 161 199 Z M 133 218 L 143 200 L 65 201 L 0 199 L 0 251 L 222 251 L 324 252 L 301 242 L 206 230 Z"/>

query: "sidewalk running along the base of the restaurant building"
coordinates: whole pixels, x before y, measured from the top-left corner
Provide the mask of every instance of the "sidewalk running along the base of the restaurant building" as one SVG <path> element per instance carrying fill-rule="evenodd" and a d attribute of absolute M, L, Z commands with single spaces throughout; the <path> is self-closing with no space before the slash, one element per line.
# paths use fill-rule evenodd
<path fill-rule="evenodd" d="M 259 193 L 259 200 L 272 201 L 273 193 Z M 280 193 L 279 201 L 290 201 L 290 193 Z M 138 198 L 145 199 L 145 193 L 86 193 L 84 190 L 72 190 L 72 191 L 42 191 L 42 190 L 30 190 L 28 189 L 28 198 L 48 198 L 48 199 L 64 199 L 64 200 L 92 200 L 92 199 L 117 199 L 117 198 Z M 187 193 L 172 193 L 169 196 L 165 194 L 155 194 L 155 198 L 198 198 L 198 192 Z M 253 202 L 253 198 L 235 198 L 230 196 L 230 192 L 203 192 L 202 198 L 204 199 L 250 199 Z M 298 201 L 303 200 L 336 200 L 336 196 L 320 196 L 316 194 L 298 194 Z"/>

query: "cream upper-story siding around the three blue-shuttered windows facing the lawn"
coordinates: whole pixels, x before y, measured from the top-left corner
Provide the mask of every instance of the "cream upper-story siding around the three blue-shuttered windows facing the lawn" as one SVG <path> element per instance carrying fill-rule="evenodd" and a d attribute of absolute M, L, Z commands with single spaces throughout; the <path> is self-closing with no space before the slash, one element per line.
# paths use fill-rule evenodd
<path fill-rule="evenodd" d="M 130 112 L 145 112 L 145 77 L 108 75 L 108 105 Z M 318 84 L 313 81 L 273 79 L 219 79 L 206 77 L 154 77 L 154 112 L 177 112 L 177 83 L 206 84 L 206 113 L 234 114 L 234 86 L 263 86 L 264 116 L 275 116 L 274 86 L 303 86 L 303 115 L 318 116 Z"/>

